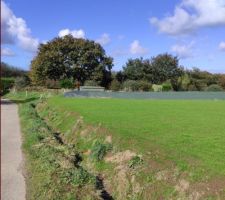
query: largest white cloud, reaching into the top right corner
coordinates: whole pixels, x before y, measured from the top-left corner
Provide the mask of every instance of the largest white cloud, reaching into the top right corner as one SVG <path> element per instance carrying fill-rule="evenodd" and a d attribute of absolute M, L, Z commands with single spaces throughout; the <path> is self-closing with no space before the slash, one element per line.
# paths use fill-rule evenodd
<path fill-rule="evenodd" d="M 201 27 L 225 25 L 225 0 L 182 0 L 173 15 L 150 18 L 159 32 L 169 35 L 191 33 Z"/>

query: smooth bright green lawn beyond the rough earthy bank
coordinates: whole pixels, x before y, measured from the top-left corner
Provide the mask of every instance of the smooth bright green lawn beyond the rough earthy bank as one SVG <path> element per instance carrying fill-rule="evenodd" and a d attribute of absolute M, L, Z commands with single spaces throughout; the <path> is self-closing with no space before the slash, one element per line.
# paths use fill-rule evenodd
<path fill-rule="evenodd" d="M 184 171 L 225 176 L 225 101 L 57 96 L 48 103 L 79 113 L 86 123 L 101 123 L 120 148 L 144 155 L 159 150 Z"/>

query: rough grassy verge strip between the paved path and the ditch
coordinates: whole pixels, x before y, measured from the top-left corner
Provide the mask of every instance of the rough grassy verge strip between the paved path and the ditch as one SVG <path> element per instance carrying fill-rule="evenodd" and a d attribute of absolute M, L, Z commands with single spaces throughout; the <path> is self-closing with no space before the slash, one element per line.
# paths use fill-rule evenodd
<path fill-rule="evenodd" d="M 99 199 L 97 178 L 82 166 L 77 148 L 64 142 L 23 94 L 19 115 L 26 157 L 27 199 Z M 14 95 L 15 98 L 15 95 Z M 15 100 L 15 99 L 14 99 Z"/>

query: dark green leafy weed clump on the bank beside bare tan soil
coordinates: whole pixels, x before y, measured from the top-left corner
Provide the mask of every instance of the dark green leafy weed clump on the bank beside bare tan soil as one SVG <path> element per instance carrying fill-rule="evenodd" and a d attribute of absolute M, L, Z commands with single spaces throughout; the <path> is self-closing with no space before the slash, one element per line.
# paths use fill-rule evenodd
<path fill-rule="evenodd" d="M 91 148 L 91 159 L 100 161 L 104 158 L 106 153 L 112 149 L 112 145 L 107 143 L 101 143 L 100 141 L 94 141 L 92 148 Z"/>

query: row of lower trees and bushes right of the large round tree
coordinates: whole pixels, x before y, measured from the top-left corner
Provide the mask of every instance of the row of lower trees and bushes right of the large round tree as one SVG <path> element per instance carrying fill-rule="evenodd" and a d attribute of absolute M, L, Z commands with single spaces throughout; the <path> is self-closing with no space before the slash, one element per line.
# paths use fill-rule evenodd
<path fill-rule="evenodd" d="M 143 88 L 158 88 L 163 91 L 223 91 L 225 74 L 212 74 L 198 68 L 184 69 L 179 65 L 177 57 L 166 53 L 145 60 L 129 59 L 121 71 L 113 73 L 111 88 L 133 91 Z"/>

